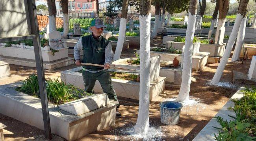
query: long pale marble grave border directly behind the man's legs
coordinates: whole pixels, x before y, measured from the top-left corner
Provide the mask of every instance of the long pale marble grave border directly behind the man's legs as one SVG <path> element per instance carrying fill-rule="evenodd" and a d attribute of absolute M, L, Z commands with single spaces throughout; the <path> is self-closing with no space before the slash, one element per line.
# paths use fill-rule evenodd
<path fill-rule="evenodd" d="M 84 89 L 83 76 L 82 73 L 79 72 L 81 70 L 82 67 L 77 67 L 67 71 L 62 71 L 61 81 L 63 81 L 65 84 L 72 84 L 76 87 Z M 139 82 L 120 79 L 111 80 L 117 96 L 139 100 Z M 158 77 L 156 80 L 150 82 L 150 101 L 163 92 L 164 85 L 165 77 Z M 102 92 L 101 85 L 98 81 L 95 83 L 94 91 Z"/>

